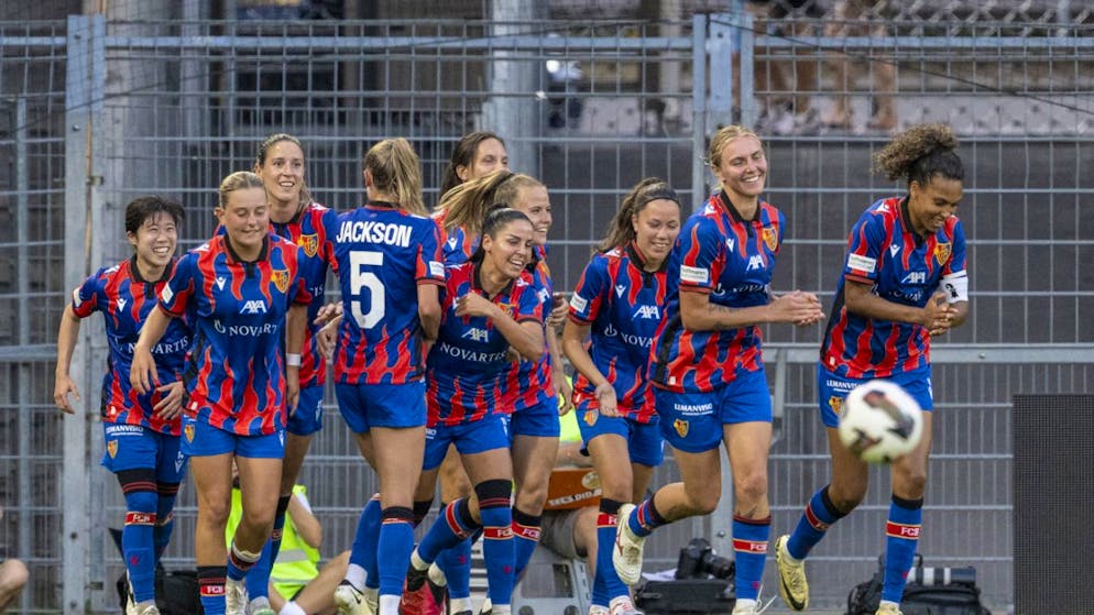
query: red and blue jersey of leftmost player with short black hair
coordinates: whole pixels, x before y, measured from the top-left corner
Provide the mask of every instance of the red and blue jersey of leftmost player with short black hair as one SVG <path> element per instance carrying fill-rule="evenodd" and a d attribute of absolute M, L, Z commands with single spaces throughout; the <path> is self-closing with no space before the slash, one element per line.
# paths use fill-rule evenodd
<path fill-rule="evenodd" d="M 156 296 L 167 284 L 174 263 L 156 281 L 141 277 L 136 257 L 112 267 L 101 268 L 73 292 L 73 312 L 87 318 L 102 312 L 107 326 L 107 373 L 102 376 L 102 403 L 99 411 L 103 422 L 140 425 L 160 433 L 178 436 L 179 417 L 164 420 L 153 408 L 163 397 L 152 391 L 138 394 L 129 384 L 133 364 L 133 345 L 141 334 L 141 327 L 156 306 Z M 193 333 L 185 319 L 172 318 L 160 342 L 152 348 L 160 384 L 171 384 L 182 376 L 186 351 Z"/>

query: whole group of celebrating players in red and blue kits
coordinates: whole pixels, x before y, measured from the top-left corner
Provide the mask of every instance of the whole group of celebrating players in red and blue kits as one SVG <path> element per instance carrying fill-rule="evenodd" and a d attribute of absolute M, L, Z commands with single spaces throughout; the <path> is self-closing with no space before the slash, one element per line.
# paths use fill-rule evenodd
<path fill-rule="evenodd" d="M 872 205 L 849 235 L 818 365 L 832 480 L 776 541 L 779 593 L 796 611 L 808 604 L 806 556 L 866 491 L 866 465 L 835 436 L 841 400 L 882 377 L 932 409 L 930 338 L 967 315 L 955 147 L 940 124 L 895 138 L 876 162 L 907 194 Z M 300 142 L 270 136 L 253 173 L 221 183 L 214 238 L 177 261 L 183 208 L 154 197 L 131 202 L 134 255 L 74 293 L 55 387 L 58 407 L 74 411 L 68 369 L 79 319 L 102 311 L 103 465 L 127 503 L 127 613 L 158 613 L 154 567 L 187 460 L 205 612 L 273 613 L 270 565 L 321 427 L 328 356 L 339 409 L 380 479 L 335 593 L 341 613 L 428 613 L 447 593 L 449 613 L 470 615 L 468 553 L 481 536 L 482 612 L 508 615 L 539 537 L 559 397 L 564 411 L 572 403 L 579 413 L 603 488 L 590 614 L 637 613 L 628 585 L 639 580 L 645 537 L 714 509 L 723 442 L 734 470 L 733 613 L 759 612 L 772 440 L 761 327 L 813 326 L 825 314 L 813 294 L 772 292 L 787 227 L 762 198 L 768 161 L 759 138 L 725 127 L 707 154 L 715 194 L 686 218 L 668 184 L 639 182 L 568 306 L 556 300 L 546 264 L 547 188 L 511 173 L 504 141 L 489 132 L 457 145 L 433 217 L 419 160 L 403 139 L 369 150 L 368 201 L 337 213 L 310 198 Z M 341 301 L 324 307 L 329 268 Z M 885 615 L 899 613 L 919 536 L 930 416 L 920 446 L 893 464 Z M 664 441 L 681 482 L 646 497 Z M 243 518 L 226 549 L 233 463 Z M 415 547 L 438 476 L 440 514 Z M 304 611 L 289 601 L 281 613 Z"/>

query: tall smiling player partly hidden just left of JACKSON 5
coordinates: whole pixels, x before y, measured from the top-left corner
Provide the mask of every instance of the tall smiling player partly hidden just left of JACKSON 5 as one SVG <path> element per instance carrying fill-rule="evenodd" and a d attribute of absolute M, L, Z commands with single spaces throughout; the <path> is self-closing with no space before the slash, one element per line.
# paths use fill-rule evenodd
<path fill-rule="evenodd" d="M 254 158 L 254 173 L 265 185 L 270 207 L 270 230 L 299 248 L 299 275 L 311 295 L 308 306 L 308 328 L 300 356 L 300 400 L 288 415 L 285 426 L 285 459 L 281 474 L 281 495 L 274 513 L 273 531 L 262 557 L 247 575 L 251 598 L 249 615 L 273 615 L 270 607 L 270 572 L 281 549 L 285 513 L 293 496 L 293 485 L 299 474 L 311 437 L 322 428 L 322 388 L 327 382 L 326 362 L 313 342 L 319 326 L 316 315 L 322 306 L 327 284 L 327 266 L 333 262 L 327 227 L 335 223 L 333 210 L 314 201 L 304 180 L 304 147 L 291 134 L 267 136 Z"/>

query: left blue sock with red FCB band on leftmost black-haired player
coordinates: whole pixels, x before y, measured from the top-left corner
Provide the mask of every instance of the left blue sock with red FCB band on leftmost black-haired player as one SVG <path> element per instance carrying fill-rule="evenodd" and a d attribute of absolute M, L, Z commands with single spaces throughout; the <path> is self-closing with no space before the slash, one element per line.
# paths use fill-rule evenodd
<path fill-rule="evenodd" d="M 129 482 L 125 493 L 125 526 L 121 530 L 121 551 L 125 558 L 129 584 L 133 600 L 144 602 L 155 598 L 155 485 Z"/>

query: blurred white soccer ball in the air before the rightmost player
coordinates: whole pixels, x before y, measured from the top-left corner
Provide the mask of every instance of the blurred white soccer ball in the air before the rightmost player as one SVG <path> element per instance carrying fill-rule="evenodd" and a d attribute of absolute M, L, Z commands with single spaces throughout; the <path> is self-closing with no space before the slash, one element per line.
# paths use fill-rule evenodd
<path fill-rule="evenodd" d="M 919 404 L 900 385 L 869 381 L 854 387 L 840 415 L 840 441 L 869 463 L 891 463 L 923 436 Z"/>

